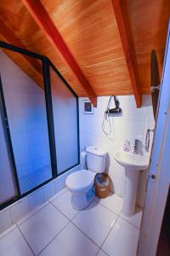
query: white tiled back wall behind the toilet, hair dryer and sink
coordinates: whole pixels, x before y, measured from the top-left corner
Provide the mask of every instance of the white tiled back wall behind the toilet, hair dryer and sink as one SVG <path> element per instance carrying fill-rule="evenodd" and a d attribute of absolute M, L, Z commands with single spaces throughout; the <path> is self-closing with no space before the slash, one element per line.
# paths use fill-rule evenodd
<path fill-rule="evenodd" d="M 84 114 L 83 100 L 87 98 L 79 99 L 80 148 L 95 145 L 107 150 L 109 157 L 107 158 L 106 172 L 111 176 L 112 190 L 117 195 L 123 196 L 124 168 L 116 163 L 114 154 L 117 150 L 122 149 L 126 139 L 130 141 L 132 148 L 135 138 L 144 144 L 146 130 L 148 128 L 153 129 L 155 121 L 150 96 L 143 96 L 142 108 L 136 108 L 133 96 L 118 96 L 122 116 L 111 118 L 112 133 L 111 136 L 107 137 L 102 131 L 102 122 L 109 98 L 109 96 L 98 97 L 98 107 L 94 108 L 94 114 Z M 114 103 L 111 108 L 115 108 Z M 143 150 L 146 154 L 144 148 Z M 141 172 L 140 176 L 138 203 L 142 206 L 145 172 Z"/>

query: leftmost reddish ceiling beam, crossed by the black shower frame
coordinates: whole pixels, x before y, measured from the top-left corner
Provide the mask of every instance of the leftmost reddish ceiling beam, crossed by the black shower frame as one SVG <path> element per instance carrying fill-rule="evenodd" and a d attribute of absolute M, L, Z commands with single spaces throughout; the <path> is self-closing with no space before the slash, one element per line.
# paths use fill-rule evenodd
<path fill-rule="evenodd" d="M 6 40 L 6 42 L 8 44 L 13 44 L 14 46 L 18 46 L 22 49 L 26 49 L 25 45 L 22 44 L 20 42 L 20 39 L 14 35 L 14 32 L 12 32 L 8 28 L 8 26 L 5 25 L 3 20 L 0 20 L 0 22 L 1 22 L 0 33 L 3 36 L 3 38 Z M 25 59 L 25 61 L 29 64 L 29 66 L 31 66 L 31 68 L 33 67 L 34 70 L 42 76 L 42 66 L 36 59 L 31 58 L 27 55 L 21 55 L 21 56 Z"/>

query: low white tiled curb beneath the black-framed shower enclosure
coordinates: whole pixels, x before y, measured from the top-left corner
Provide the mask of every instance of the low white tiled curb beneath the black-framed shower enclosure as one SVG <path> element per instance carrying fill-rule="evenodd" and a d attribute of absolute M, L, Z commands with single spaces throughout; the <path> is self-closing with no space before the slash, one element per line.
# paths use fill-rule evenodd
<path fill-rule="evenodd" d="M 27 195 L 20 201 L 15 202 L 9 207 L 0 212 L 0 233 L 7 230 L 10 226 L 18 222 L 21 218 L 25 218 L 27 214 L 41 207 L 41 205 L 48 201 L 53 195 L 59 193 L 60 190 L 65 188 L 65 178 L 80 170 L 80 166 L 76 166 L 55 178 L 50 183 L 44 185 L 41 189 Z"/>

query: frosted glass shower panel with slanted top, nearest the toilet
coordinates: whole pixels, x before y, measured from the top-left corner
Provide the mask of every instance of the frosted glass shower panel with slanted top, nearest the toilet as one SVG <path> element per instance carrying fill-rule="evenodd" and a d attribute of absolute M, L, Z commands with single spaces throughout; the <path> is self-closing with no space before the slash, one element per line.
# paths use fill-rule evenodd
<path fill-rule="evenodd" d="M 50 67 L 54 136 L 58 173 L 76 166 L 78 160 L 77 97 Z"/>

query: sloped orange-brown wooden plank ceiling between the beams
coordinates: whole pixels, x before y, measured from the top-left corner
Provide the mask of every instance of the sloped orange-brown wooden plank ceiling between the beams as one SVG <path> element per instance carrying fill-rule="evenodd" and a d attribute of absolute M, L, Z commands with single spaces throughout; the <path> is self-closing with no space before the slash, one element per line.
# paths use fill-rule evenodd
<path fill-rule="evenodd" d="M 170 15 L 169 0 L 41 1 L 97 96 L 135 94 L 112 2 L 126 4 L 130 43 L 133 43 L 139 74 L 137 86 L 141 94 L 149 94 L 150 53 L 156 49 L 161 73 Z M 21 0 L 0 1 L 0 22 L 0 40 L 48 56 L 77 95 L 88 96 L 83 84 L 50 44 Z M 6 53 L 32 79 L 42 83 L 38 70 L 40 63 L 32 66 L 26 58 Z"/>

